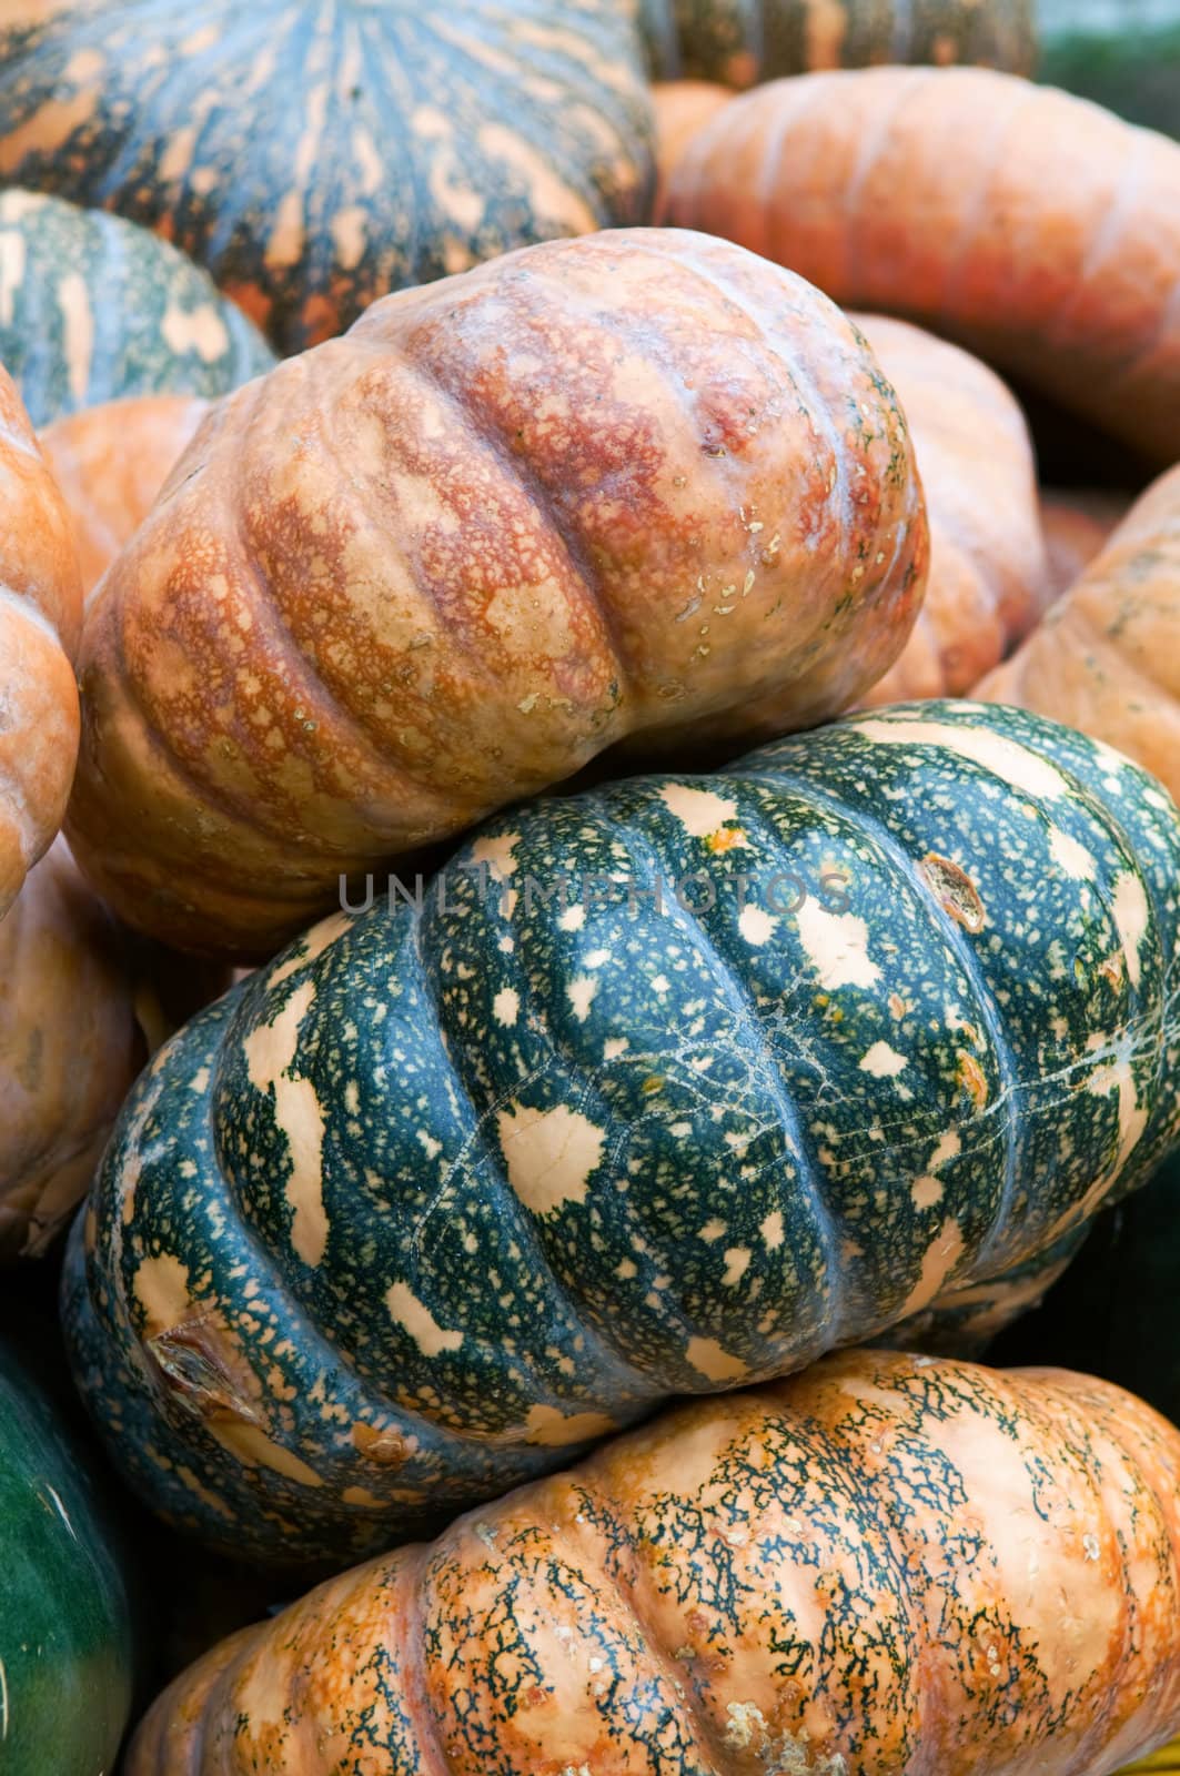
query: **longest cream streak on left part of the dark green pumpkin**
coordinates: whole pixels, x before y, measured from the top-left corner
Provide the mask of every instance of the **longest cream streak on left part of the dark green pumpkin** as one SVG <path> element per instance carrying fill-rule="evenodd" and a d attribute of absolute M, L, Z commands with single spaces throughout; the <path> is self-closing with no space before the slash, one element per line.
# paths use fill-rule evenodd
<path fill-rule="evenodd" d="M 318 1265 L 327 1247 L 323 1211 L 323 1110 L 311 1080 L 293 1080 L 288 1067 L 299 1048 L 299 1027 L 316 996 L 315 980 L 304 980 L 272 1023 L 263 1023 L 243 1041 L 251 1085 L 274 1090 L 274 1119 L 286 1135 L 291 1170 L 286 1201 L 291 1206 L 291 1247 L 304 1265 Z"/>

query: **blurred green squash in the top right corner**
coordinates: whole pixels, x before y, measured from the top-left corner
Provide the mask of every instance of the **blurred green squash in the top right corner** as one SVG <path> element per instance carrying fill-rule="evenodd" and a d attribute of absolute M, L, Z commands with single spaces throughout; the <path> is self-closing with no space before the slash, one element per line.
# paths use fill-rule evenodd
<path fill-rule="evenodd" d="M 1043 0 L 1036 78 L 1180 137 L 1180 0 Z"/>

